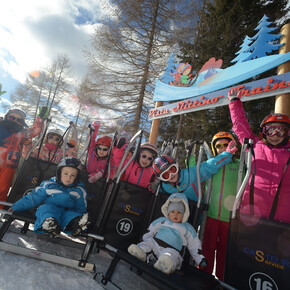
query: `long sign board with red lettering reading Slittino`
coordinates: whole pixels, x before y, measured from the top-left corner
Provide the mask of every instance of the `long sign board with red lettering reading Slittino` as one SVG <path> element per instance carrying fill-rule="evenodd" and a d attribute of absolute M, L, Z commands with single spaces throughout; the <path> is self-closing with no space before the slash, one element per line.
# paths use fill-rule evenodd
<path fill-rule="evenodd" d="M 290 72 L 151 109 L 148 118 L 161 119 L 226 106 L 229 104 L 228 92 L 233 88 L 242 90 L 242 102 L 286 94 L 290 92 Z"/>

